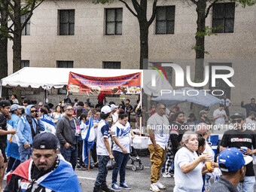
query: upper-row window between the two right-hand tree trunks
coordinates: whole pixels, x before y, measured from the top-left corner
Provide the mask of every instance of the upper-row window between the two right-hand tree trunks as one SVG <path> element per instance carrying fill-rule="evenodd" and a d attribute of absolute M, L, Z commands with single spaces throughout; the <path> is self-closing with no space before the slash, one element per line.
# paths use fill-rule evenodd
<path fill-rule="evenodd" d="M 156 34 L 174 34 L 175 6 L 157 7 Z"/>

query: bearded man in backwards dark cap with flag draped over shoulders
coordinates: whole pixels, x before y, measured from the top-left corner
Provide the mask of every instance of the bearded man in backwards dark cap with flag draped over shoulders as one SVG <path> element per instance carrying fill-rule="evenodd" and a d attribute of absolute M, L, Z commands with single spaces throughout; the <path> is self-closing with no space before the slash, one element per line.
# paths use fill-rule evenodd
<path fill-rule="evenodd" d="M 72 165 L 57 154 L 59 141 L 52 133 L 40 133 L 32 143 L 32 159 L 8 175 L 5 192 L 81 192 Z"/>

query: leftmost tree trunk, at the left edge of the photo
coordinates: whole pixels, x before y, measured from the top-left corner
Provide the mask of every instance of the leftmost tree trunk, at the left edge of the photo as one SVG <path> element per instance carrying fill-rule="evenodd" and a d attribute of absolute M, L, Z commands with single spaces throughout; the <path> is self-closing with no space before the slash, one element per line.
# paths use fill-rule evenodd
<path fill-rule="evenodd" d="M 1 28 L 8 30 L 7 0 L 2 1 Z M 0 79 L 8 76 L 8 32 L 0 32 Z M 2 87 L 2 96 L 8 97 L 8 88 Z"/>

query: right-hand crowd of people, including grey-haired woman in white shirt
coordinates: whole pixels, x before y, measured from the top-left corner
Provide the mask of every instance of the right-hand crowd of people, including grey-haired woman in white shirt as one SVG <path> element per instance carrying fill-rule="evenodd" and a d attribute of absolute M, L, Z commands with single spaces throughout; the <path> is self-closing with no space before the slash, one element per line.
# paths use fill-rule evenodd
<path fill-rule="evenodd" d="M 166 106 L 161 103 L 153 105 L 149 112 L 155 112 L 148 119 L 150 190 L 158 192 L 166 189 L 160 183 L 162 172 L 165 178 L 174 176 L 176 192 L 254 191 L 255 175 L 251 157 L 256 154 L 254 101 L 253 98 L 247 105 L 241 103 L 247 117 L 241 113 L 230 116 L 228 108 L 231 102 L 224 96 L 219 108 L 213 112 L 213 123 L 209 120 L 207 109 L 200 111 L 199 120 L 195 114 L 189 114 L 186 120 L 184 112 L 179 111 L 177 105 L 173 111 L 166 111 Z M 218 154 L 209 146 L 207 139 L 211 135 L 212 125 L 225 123 L 230 129 L 224 132 L 219 144 L 221 153 Z M 231 157 L 236 166 L 232 159 L 227 159 Z M 210 178 L 216 181 L 212 187 Z"/>

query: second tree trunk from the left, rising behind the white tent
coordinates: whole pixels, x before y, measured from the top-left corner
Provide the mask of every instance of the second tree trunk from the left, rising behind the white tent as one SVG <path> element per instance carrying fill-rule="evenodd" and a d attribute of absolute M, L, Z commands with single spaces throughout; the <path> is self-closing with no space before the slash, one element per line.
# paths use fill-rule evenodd
<path fill-rule="evenodd" d="M 20 1 L 14 3 L 14 45 L 13 45 L 13 72 L 21 69 L 21 22 L 20 22 Z M 20 90 L 13 88 L 13 94 L 17 95 L 17 99 L 21 99 Z"/>

